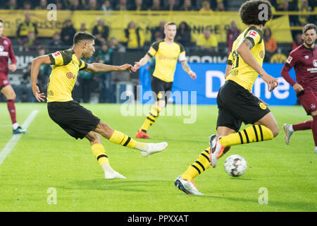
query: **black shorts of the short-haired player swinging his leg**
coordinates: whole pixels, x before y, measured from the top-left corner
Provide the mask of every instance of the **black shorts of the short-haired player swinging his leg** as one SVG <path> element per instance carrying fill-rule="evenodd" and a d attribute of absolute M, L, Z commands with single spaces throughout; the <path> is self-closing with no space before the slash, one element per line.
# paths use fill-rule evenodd
<path fill-rule="evenodd" d="M 49 102 L 47 104 L 49 117 L 63 130 L 74 138 L 84 138 L 94 130 L 100 119 L 78 102 Z"/>

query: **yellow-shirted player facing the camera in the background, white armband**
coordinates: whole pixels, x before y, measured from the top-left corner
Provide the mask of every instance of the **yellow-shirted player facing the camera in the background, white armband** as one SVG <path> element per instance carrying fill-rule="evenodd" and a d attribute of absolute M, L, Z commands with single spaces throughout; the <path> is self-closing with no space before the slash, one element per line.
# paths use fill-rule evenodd
<path fill-rule="evenodd" d="M 159 113 L 166 106 L 168 95 L 173 87 L 174 73 L 178 61 L 182 64 L 182 69 L 189 74 L 193 79 L 196 79 L 194 73 L 187 64 L 185 48 L 182 44 L 174 42 L 176 35 L 176 24 L 174 22 L 166 23 L 164 26 L 164 40 L 154 42 L 147 54 L 135 62 L 135 70 L 144 66 L 150 61 L 151 57 L 155 56 L 155 69 L 151 80 L 151 88 L 154 93 L 154 107 L 150 110 L 147 118 L 144 120 L 139 131 L 135 135 L 136 138 L 148 139 L 147 130 L 149 126 L 154 124 L 159 117 Z"/>

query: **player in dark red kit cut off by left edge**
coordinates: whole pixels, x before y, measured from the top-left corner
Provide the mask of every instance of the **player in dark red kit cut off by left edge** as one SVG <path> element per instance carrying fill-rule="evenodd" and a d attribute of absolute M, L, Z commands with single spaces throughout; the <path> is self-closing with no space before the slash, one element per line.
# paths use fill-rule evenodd
<path fill-rule="evenodd" d="M 25 133 L 27 130 L 22 129 L 16 121 L 15 112 L 15 92 L 8 81 L 8 70 L 14 72 L 16 70 L 16 59 L 8 37 L 2 36 L 4 32 L 4 21 L 0 19 L 0 93 L 6 97 L 6 105 L 10 113 L 13 134 Z M 8 65 L 8 59 L 11 64 Z"/>

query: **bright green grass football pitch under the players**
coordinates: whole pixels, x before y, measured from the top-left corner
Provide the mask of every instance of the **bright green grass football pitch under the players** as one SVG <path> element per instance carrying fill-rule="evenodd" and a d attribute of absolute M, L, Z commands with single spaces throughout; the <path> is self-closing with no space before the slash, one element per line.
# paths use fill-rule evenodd
<path fill-rule="evenodd" d="M 122 105 L 83 106 L 132 138 L 145 118 L 123 116 Z M 317 154 L 311 130 L 295 132 L 290 145 L 285 145 L 280 129 L 273 141 L 233 146 L 215 169 L 210 167 L 194 179 L 204 196 L 188 196 L 174 188 L 174 181 L 209 147 L 209 136 L 216 133 L 216 106 L 197 106 L 194 124 L 184 124 L 182 116 L 160 116 L 145 142 L 166 141 L 168 147 L 147 158 L 102 138 L 111 166 L 127 177 L 110 180 L 104 179 L 89 142 L 75 140 L 51 121 L 46 104 L 18 103 L 16 107 L 20 124 L 34 109 L 39 113 L 0 165 L 0 212 L 317 210 Z M 280 128 L 311 119 L 301 106 L 270 109 Z M 1 152 L 12 137 L 12 128 L 6 103 L 0 103 L 0 112 Z M 247 160 L 242 177 L 225 174 L 225 158 L 234 154 Z"/>

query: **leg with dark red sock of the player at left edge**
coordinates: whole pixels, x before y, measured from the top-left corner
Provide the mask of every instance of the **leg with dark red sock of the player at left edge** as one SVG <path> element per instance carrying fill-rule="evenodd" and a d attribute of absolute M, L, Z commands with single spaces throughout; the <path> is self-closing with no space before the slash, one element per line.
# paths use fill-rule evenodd
<path fill-rule="evenodd" d="M 26 133 L 27 130 L 22 129 L 22 127 L 16 121 L 16 111 L 15 111 L 15 92 L 11 85 L 6 85 L 1 89 L 1 93 L 6 97 L 6 105 L 8 107 L 8 112 L 11 117 L 13 134 Z"/>

